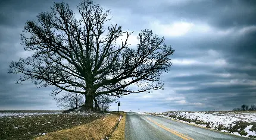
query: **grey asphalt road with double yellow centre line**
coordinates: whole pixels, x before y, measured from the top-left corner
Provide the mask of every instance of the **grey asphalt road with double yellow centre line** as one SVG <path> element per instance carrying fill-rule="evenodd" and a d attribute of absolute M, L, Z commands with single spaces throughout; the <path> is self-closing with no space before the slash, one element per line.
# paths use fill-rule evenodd
<path fill-rule="evenodd" d="M 233 136 L 186 123 L 176 122 L 150 114 L 127 113 L 125 138 L 127 140 L 160 139 L 249 139 Z"/>

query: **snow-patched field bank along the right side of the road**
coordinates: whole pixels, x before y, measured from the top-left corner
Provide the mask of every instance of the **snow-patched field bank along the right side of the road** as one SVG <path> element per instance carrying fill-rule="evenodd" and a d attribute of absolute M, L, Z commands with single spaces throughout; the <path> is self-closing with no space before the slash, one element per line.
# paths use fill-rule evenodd
<path fill-rule="evenodd" d="M 164 112 L 153 114 L 233 135 L 256 138 L 256 112 Z"/>

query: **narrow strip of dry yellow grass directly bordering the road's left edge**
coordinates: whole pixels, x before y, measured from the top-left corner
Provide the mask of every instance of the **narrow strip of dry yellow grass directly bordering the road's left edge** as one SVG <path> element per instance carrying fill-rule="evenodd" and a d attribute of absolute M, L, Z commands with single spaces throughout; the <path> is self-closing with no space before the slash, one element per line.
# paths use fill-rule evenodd
<path fill-rule="evenodd" d="M 110 140 L 123 140 L 124 139 L 124 129 L 126 126 L 126 113 L 121 113 L 121 114 L 123 114 L 123 117 L 122 117 L 117 129 L 111 135 Z"/>

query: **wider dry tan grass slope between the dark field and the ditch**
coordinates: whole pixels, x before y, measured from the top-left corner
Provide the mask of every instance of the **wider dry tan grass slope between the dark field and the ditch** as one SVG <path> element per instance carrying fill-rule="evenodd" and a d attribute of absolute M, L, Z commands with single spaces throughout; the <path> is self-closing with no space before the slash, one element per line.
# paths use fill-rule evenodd
<path fill-rule="evenodd" d="M 36 139 L 103 139 L 105 136 L 111 135 L 118 123 L 118 117 L 116 114 L 109 114 L 103 119 L 97 119 L 71 129 L 51 132 Z"/>

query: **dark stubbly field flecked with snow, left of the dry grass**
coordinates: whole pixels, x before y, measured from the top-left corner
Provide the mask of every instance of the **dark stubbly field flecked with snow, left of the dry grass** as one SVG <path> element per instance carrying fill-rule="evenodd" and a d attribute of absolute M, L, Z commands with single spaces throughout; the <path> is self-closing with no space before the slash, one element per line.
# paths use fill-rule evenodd
<path fill-rule="evenodd" d="M 33 139 L 104 117 L 99 113 L 0 112 L 0 139 Z"/>

